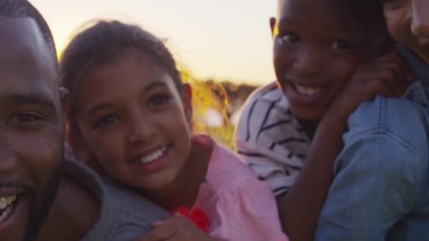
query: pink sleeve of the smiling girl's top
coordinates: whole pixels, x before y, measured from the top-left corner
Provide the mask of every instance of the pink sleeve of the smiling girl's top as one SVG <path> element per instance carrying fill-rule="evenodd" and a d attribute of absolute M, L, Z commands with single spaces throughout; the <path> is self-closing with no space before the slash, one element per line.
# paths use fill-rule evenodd
<path fill-rule="evenodd" d="M 228 241 L 284 241 L 277 205 L 270 188 L 258 180 L 243 180 L 220 194 L 216 206 L 219 227 L 210 235 Z"/>

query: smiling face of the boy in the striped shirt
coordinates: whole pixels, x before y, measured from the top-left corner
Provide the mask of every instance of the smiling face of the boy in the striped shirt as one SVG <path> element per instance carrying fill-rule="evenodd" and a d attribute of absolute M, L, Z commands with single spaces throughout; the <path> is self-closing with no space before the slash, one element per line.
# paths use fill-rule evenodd
<path fill-rule="evenodd" d="M 368 59 L 369 47 L 336 0 L 283 0 L 272 20 L 274 68 L 294 114 L 318 121 Z"/>

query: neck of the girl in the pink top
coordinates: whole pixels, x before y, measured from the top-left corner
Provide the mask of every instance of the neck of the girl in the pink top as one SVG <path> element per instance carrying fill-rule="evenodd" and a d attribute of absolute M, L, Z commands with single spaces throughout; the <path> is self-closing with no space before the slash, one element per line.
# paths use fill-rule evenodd
<path fill-rule="evenodd" d="M 190 157 L 177 180 L 169 187 L 155 192 L 144 192 L 143 195 L 169 211 L 180 206 L 190 209 L 198 197 L 201 183 L 205 181 L 211 154 L 212 146 L 193 144 Z"/>

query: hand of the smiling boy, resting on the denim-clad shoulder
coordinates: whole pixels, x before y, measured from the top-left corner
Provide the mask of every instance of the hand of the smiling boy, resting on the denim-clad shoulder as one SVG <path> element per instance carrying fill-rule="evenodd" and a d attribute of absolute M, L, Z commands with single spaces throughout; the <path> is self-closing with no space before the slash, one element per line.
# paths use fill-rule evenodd
<path fill-rule="evenodd" d="M 385 54 L 356 68 L 354 75 L 330 104 L 327 115 L 346 121 L 363 101 L 377 94 L 402 97 L 412 82 L 409 67 L 395 53 Z"/>

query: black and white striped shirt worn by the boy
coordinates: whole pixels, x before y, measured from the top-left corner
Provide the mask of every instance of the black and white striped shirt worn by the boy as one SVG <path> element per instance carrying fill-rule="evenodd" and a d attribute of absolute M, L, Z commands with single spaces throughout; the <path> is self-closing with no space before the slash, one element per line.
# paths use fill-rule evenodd
<path fill-rule="evenodd" d="M 310 139 L 276 82 L 260 87 L 243 105 L 236 147 L 275 195 L 294 185 L 310 148 Z"/>

